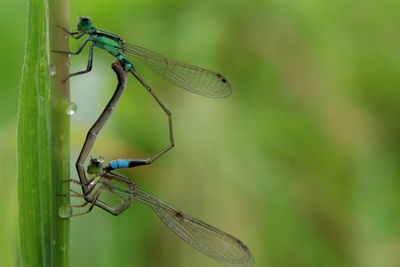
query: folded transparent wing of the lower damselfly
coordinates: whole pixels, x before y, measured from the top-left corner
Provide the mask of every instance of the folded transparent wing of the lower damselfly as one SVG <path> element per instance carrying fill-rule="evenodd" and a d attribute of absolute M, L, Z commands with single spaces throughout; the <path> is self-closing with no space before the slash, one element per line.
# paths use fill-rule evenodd
<path fill-rule="evenodd" d="M 152 207 L 169 228 L 200 252 L 230 266 L 253 265 L 249 249 L 240 240 L 186 215 L 138 187 L 134 192 L 134 198 Z"/>

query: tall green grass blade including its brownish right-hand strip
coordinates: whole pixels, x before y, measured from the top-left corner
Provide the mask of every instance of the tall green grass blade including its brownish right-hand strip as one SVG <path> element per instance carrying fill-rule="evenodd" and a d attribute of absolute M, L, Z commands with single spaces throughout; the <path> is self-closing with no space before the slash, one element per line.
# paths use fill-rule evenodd
<path fill-rule="evenodd" d="M 28 1 L 28 29 L 18 108 L 19 262 L 22 266 L 68 265 L 69 221 L 58 218 L 68 199 L 69 104 L 68 1 Z"/>

